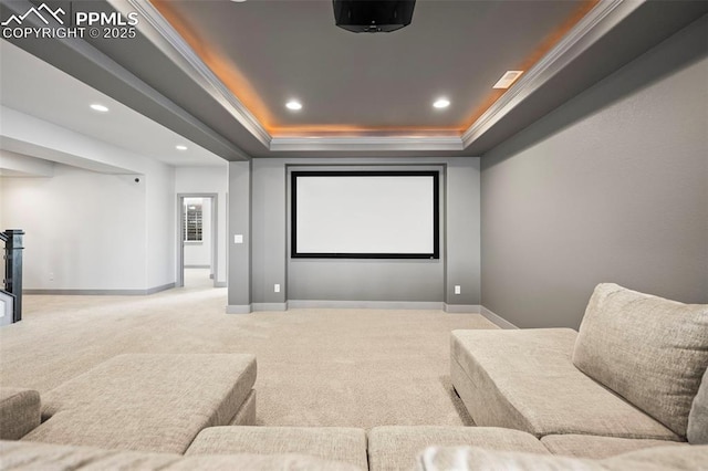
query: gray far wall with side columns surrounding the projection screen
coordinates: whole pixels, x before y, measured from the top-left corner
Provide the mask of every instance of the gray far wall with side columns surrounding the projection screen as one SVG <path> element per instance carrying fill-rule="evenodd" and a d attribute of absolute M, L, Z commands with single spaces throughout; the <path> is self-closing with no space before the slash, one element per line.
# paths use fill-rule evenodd
<path fill-rule="evenodd" d="M 303 166 L 441 170 L 440 260 L 291 260 L 289 171 Z M 236 169 L 235 164 L 231 168 Z M 246 170 L 240 165 L 238 171 Z M 288 301 L 404 302 L 447 303 L 468 310 L 480 304 L 479 158 L 254 159 L 251 176 L 251 299 L 246 303 L 240 294 L 231 296 L 237 287 L 231 287 L 230 281 L 230 305 L 238 301 L 254 310 L 268 310 L 282 308 Z M 235 178 L 230 181 L 241 184 Z M 230 214 L 246 219 L 243 201 L 235 201 L 235 197 L 231 188 Z M 230 263 L 240 262 L 241 258 L 230 257 Z M 281 285 L 280 293 L 273 291 L 274 284 Z M 462 294 L 452 294 L 455 284 L 462 286 Z"/>

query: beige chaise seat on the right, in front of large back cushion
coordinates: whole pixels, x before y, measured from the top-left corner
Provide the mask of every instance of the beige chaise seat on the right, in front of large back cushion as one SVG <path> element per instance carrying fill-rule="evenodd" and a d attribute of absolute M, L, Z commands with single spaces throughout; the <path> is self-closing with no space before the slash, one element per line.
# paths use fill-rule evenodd
<path fill-rule="evenodd" d="M 575 337 L 569 328 L 454 331 L 450 375 L 475 423 L 537 437 L 680 440 L 575 368 Z"/>

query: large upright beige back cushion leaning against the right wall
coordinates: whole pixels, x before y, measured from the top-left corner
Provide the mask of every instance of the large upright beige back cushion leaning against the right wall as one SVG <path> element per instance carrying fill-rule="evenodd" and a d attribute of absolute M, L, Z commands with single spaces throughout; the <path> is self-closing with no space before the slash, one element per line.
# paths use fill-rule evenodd
<path fill-rule="evenodd" d="M 708 305 L 600 284 L 587 303 L 573 364 L 686 437 L 708 365 Z"/>

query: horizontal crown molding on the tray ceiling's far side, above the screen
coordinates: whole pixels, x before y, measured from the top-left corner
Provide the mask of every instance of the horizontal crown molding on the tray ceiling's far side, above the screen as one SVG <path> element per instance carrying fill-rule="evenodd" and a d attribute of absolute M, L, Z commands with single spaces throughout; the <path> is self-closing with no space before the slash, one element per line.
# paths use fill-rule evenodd
<path fill-rule="evenodd" d="M 272 151 L 465 150 L 450 137 L 273 137 Z"/>

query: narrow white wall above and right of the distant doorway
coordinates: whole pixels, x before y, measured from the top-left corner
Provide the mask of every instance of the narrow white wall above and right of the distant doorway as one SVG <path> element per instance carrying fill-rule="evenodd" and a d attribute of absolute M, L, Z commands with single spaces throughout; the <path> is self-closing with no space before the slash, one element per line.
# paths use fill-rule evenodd
<path fill-rule="evenodd" d="M 227 191 L 229 186 L 228 166 L 223 167 L 178 167 L 175 169 L 175 192 L 177 195 L 216 193 L 217 205 L 217 273 L 218 285 L 226 286 L 227 279 Z M 178 210 L 178 201 L 174 201 Z M 175 229 L 176 230 L 176 229 Z M 186 255 L 185 255 L 186 257 Z M 176 259 L 176 254 L 175 254 Z M 187 261 L 185 259 L 185 263 Z"/>

